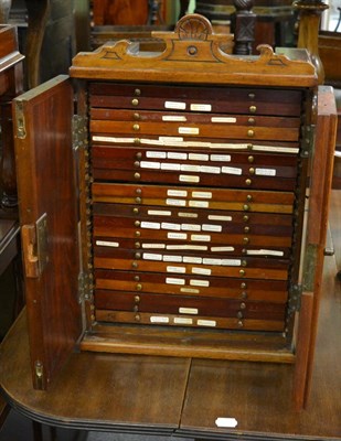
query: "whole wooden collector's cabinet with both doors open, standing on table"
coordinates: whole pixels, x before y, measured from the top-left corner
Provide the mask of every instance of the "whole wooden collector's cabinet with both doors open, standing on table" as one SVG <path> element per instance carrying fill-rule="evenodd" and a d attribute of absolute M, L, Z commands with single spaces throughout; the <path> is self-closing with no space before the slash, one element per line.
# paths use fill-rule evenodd
<path fill-rule="evenodd" d="M 232 36 L 198 14 L 156 36 L 162 53 L 128 42 L 81 53 L 72 80 L 14 101 L 34 386 L 77 343 L 296 363 L 305 395 L 332 90 L 301 51 L 223 53 Z"/>

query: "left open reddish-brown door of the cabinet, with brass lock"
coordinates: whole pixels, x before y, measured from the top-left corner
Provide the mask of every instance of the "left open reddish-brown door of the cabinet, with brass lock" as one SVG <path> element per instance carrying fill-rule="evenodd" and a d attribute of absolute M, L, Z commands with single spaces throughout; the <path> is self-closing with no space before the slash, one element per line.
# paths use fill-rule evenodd
<path fill-rule="evenodd" d="M 33 385 L 45 389 L 82 331 L 73 90 L 58 76 L 13 103 Z"/>

